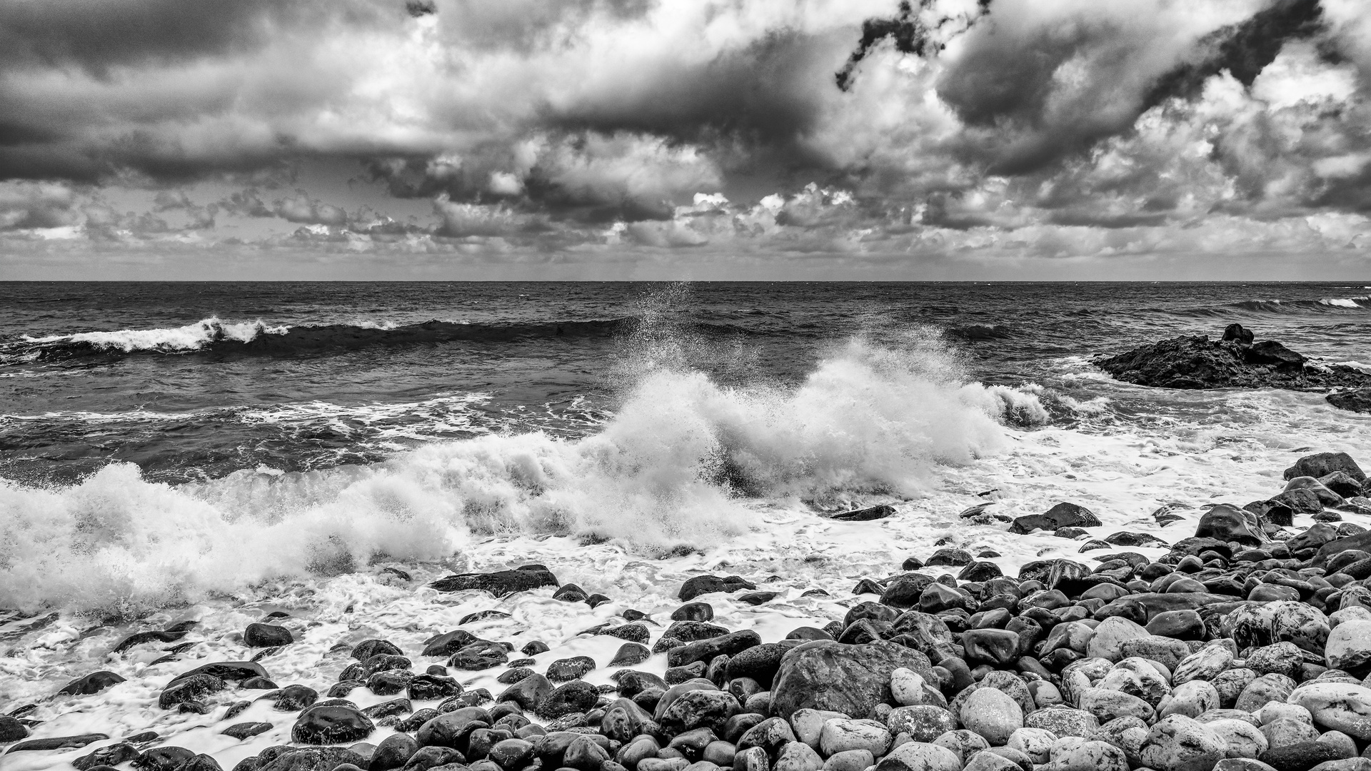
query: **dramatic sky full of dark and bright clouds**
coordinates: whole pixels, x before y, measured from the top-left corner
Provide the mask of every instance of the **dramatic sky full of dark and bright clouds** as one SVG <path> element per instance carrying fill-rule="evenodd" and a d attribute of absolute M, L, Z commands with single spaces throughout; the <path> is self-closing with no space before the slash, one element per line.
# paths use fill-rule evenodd
<path fill-rule="evenodd" d="M 1366 0 L 0 0 L 4 278 L 1366 278 Z"/>

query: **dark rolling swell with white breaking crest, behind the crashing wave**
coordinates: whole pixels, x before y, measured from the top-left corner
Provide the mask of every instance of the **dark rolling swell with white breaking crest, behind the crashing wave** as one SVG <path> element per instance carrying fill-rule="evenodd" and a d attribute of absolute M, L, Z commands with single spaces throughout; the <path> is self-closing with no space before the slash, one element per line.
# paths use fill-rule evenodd
<path fill-rule="evenodd" d="M 0 364 L 55 362 L 133 354 L 292 355 L 348 351 L 373 346 L 422 343 L 503 343 L 539 337 L 595 337 L 632 331 L 635 318 L 465 324 L 425 321 L 409 325 L 322 324 L 273 327 L 259 321 L 229 322 L 210 317 L 185 327 L 80 332 L 22 337 L 0 343 Z"/>

